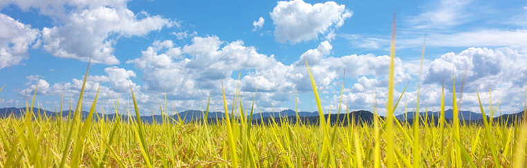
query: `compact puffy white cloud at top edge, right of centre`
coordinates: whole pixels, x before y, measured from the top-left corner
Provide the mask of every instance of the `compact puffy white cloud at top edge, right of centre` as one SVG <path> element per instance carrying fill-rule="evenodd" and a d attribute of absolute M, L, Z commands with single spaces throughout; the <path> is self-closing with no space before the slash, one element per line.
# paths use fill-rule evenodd
<path fill-rule="evenodd" d="M 339 28 L 351 15 L 344 5 L 334 1 L 311 5 L 302 0 L 279 1 L 270 13 L 280 43 L 310 41 Z"/>

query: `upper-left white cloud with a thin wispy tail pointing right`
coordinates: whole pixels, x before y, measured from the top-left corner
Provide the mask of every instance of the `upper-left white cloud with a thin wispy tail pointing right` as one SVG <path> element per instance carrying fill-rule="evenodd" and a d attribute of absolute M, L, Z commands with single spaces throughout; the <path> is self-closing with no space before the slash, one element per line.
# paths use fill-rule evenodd
<path fill-rule="evenodd" d="M 153 30 L 172 26 L 169 19 L 147 14 L 138 19 L 126 8 L 98 7 L 76 11 L 66 24 L 42 30 L 44 49 L 53 56 L 114 65 L 113 55 L 118 36 L 143 36 Z M 118 34 L 117 37 L 113 34 Z"/>

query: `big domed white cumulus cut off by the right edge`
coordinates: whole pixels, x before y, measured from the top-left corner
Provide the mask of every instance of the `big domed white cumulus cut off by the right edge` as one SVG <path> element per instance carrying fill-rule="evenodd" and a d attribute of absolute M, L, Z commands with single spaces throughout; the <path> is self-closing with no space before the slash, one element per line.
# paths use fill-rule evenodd
<path fill-rule="evenodd" d="M 515 112 L 523 107 L 523 93 L 527 81 L 527 56 L 513 50 L 490 50 L 468 48 L 459 54 L 444 54 L 432 61 L 425 72 L 424 83 L 441 85 L 445 78 L 445 89 L 452 90 L 452 74 L 456 78 L 456 91 L 460 92 L 463 76 L 463 103 L 465 107 L 479 110 L 476 89 L 479 90 L 483 105 L 488 104 L 488 90 L 492 100 L 501 101 L 502 109 Z M 423 87 L 425 88 L 425 87 Z M 452 95 L 452 94 L 450 94 Z"/>

